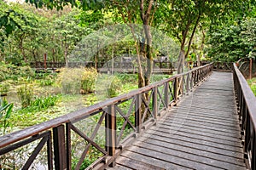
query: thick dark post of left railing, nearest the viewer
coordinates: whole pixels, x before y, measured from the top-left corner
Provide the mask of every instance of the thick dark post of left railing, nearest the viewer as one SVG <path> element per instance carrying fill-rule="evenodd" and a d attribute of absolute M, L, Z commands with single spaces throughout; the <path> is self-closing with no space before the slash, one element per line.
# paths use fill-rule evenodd
<path fill-rule="evenodd" d="M 55 154 L 55 169 L 67 169 L 67 152 L 64 125 L 53 128 L 53 141 Z"/>

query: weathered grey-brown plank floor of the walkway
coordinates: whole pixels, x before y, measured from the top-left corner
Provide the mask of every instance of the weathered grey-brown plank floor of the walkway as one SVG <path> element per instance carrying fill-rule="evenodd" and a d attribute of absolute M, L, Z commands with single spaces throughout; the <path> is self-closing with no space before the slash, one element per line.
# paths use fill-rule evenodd
<path fill-rule="evenodd" d="M 246 169 L 236 112 L 232 74 L 213 72 L 108 169 Z"/>

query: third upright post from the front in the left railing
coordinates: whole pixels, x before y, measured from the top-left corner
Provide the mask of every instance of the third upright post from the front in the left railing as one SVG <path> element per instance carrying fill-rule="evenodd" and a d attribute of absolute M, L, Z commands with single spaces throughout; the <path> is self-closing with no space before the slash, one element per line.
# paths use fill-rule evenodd
<path fill-rule="evenodd" d="M 137 133 L 141 132 L 142 127 L 142 94 L 137 94 L 135 103 L 135 127 Z"/>

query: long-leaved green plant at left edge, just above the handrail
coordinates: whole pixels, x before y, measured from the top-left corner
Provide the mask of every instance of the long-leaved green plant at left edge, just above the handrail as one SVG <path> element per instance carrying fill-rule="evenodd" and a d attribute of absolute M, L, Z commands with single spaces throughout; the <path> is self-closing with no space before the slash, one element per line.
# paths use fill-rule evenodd
<path fill-rule="evenodd" d="M 0 99 L 0 128 L 1 135 L 6 133 L 8 127 L 11 126 L 9 117 L 11 116 L 14 104 L 8 103 L 6 99 Z"/>

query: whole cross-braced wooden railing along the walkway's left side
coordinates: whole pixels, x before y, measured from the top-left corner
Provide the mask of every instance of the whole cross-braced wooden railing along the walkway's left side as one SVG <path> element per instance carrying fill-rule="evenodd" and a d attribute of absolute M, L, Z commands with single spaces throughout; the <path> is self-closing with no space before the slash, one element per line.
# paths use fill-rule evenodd
<path fill-rule="evenodd" d="M 115 157 L 127 144 L 153 126 L 169 107 L 176 105 L 184 94 L 189 94 L 211 73 L 212 64 L 204 65 L 129 94 L 4 135 L 0 137 L 1 159 L 9 159 L 10 152 L 36 142 L 33 148 L 19 151 L 19 155 L 26 158 L 22 169 L 31 167 L 38 153 L 44 150 L 47 150 L 43 155 L 48 169 L 79 169 L 86 156 L 94 160 L 87 169 L 113 166 Z M 74 145 L 78 141 L 82 147 L 73 153 L 78 148 Z"/>

